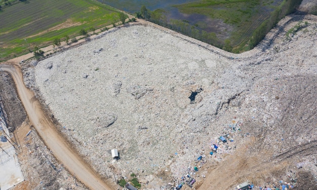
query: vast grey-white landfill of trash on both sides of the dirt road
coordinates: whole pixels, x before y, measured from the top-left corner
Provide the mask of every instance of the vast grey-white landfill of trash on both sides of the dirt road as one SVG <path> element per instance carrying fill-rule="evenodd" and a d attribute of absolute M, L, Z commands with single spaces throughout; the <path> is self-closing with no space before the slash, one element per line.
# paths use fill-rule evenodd
<path fill-rule="evenodd" d="M 137 22 L 20 67 L 112 189 L 313 190 L 316 63 L 317 16 L 293 14 L 242 54 Z M 88 189 L 29 124 L 10 75 L 0 84 L 24 177 L 10 189 Z"/>

